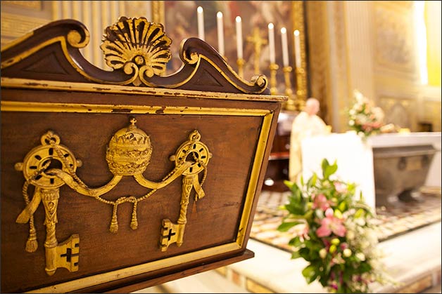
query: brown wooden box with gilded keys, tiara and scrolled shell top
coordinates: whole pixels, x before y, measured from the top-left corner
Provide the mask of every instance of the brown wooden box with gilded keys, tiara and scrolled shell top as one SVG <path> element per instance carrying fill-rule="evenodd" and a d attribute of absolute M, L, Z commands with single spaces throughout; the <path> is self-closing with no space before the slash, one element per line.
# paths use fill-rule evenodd
<path fill-rule="evenodd" d="M 170 39 L 145 18 L 106 29 L 112 72 L 88 41 L 62 20 L 1 51 L 1 293 L 127 293 L 252 258 L 286 98 L 195 38 L 162 76 Z"/>

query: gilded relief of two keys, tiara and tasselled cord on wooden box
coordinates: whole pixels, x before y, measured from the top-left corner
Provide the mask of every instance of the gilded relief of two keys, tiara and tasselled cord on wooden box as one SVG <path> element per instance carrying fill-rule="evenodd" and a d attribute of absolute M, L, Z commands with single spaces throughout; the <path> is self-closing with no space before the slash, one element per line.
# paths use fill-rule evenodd
<path fill-rule="evenodd" d="M 46 273 L 51 276 L 55 274 L 58 267 L 65 267 L 70 272 L 78 270 L 80 258 L 80 236 L 72 234 L 67 240 L 58 243 L 56 239 L 56 223 L 58 199 L 60 199 L 59 188 L 68 185 L 79 194 L 91 196 L 101 203 L 112 206 L 112 217 L 109 231 L 118 232 L 118 206 L 122 203 L 132 203 L 132 218 L 130 227 L 137 229 L 137 204 L 149 198 L 158 189 L 169 185 L 172 181 L 182 176 L 182 196 L 177 223 L 169 219 L 163 220 L 160 228 L 160 249 L 165 251 L 172 243 L 181 246 L 184 237 L 184 227 L 187 223 L 187 206 L 192 189 L 195 190 L 195 201 L 201 199 L 205 194 L 203 182 L 207 176 L 207 165 L 212 154 L 208 147 L 201 142 L 201 135 L 193 131 L 189 140 L 182 143 L 170 156 L 170 161 L 175 163 L 175 168 L 166 175 L 160 182 L 152 182 L 144 178 L 144 171 L 151 160 L 152 145 L 151 138 L 144 131 L 137 128 L 136 119 L 130 119 L 130 125 L 117 131 L 110 139 L 106 149 L 106 161 L 108 168 L 113 173 L 113 178 L 102 187 L 91 188 L 77 176 L 75 171 L 82 166 L 82 161 L 75 159 L 74 154 L 60 144 L 60 138 L 53 131 L 48 131 L 40 142 L 42 145 L 34 147 L 25 156 L 23 162 L 15 163 L 17 171 L 23 171 L 25 184 L 23 185 L 23 198 L 26 207 L 18 215 L 16 222 L 30 223 L 30 234 L 27 239 L 27 252 L 37 250 L 37 233 L 34 227 L 34 212 L 39 203 L 43 202 L 45 211 L 44 225 L 46 226 L 46 240 L 44 248 L 46 252 Z M 201 181 L 200 181 L 200 174 Z M 109 192 L 123 176 L 133 176 L 139 185 L 150 189 L 143 196 L 120 196 L 115 201 L 109 201 L 101 196 Z M 34 195 L 29 198 L 27 189 L 33 185 Z"/>

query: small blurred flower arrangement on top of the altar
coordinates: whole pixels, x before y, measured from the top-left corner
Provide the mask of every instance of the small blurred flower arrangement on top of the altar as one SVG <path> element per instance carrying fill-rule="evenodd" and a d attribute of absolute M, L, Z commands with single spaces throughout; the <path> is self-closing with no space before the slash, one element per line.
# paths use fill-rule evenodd
<path fill-rule="evenodd" d="M 348 126 L 362 138 L 379 133 L 384 126 L 384 112 L 358 90 L 353 91 L 353 107 L 348 110 Z"/>

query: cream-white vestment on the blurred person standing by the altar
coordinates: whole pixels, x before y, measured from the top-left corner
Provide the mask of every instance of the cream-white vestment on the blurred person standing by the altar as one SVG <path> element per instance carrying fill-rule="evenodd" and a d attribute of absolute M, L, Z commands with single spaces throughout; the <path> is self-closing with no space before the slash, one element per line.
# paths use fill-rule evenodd
<path fill-rule="evenodd" d="M 301 141 L 304 138 L 327 133 L 329 133 L 327 125 L 315 114 L 309 115 L 307 112 L 301 112 L 293 119 L 289 159 L 289 180 L 291 182 L 296 182 L 302 171 Z"/>

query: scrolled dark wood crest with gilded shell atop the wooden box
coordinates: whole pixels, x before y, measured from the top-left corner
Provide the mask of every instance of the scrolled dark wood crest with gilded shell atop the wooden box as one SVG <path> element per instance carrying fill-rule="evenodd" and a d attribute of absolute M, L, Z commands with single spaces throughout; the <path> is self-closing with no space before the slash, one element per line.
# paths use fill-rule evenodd
<path fill-rule="evenodd" d="M 254 76 L 251 82 L 241 79 L 215 49 L 197 38 L 182 42 L 179 57 L 184 62 L 183 67 L 175 74 L 161 76 L 171 58 L 169 47 L 172 41 L 165 34 L 163 25 L 146 18 L 121 17 L 106 28 L 101 50 L 113 72 L 94 67 L 83 58 L 79 49 L 89 43 L 89 32 L 76 20 L 51 22 L 18 42 L 5 46 L 1 52 L 3 76 L 38 79 L 42 73 L 48 73 L 51 79 L 89 83 L 270 93 L 265 76 Z M 63 56 L 60 56 L 58 46 L 61 46 Z M 44 58 L 37 63 L 30 62 L 30 56 L 36 51 L 44 51 Z"/>

